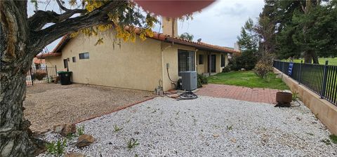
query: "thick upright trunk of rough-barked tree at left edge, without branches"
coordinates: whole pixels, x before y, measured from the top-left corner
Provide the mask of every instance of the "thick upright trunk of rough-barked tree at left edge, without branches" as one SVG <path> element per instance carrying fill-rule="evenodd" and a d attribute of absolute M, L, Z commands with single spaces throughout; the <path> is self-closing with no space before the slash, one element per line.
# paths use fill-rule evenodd
<path fill-rule="evenodd" d="M 1 156 L 32 156 L 29 121 L 25 120 L 25 75 L 34 55 L 29 53 L 27 1 L 1 1 Z"/>

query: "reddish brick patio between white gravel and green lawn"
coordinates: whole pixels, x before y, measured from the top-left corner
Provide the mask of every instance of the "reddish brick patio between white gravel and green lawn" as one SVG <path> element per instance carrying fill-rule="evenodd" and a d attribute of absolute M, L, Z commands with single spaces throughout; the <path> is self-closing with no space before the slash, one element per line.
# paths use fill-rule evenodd
<path fill-rule="evenodd" d="M 279 90 L 269 88 L 246 88 L 241 86 L 208 84 L 204 85 L 203 88 L 199 88 L 197 95 L 276 104 L 275 95 L 278 91 Z"/>

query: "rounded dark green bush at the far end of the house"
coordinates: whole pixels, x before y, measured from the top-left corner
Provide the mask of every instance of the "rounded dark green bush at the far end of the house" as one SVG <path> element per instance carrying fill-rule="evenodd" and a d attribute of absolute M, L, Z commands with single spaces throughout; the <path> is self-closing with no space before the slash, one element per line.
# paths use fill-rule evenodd
<path fill-rule="evenodd" d="M 229 59 L 229 67 L 231 70 L 246 69 L 251 70 L 255 67 L 256 62 L 258 62 L 258 57 L 256 57 L 256 50 L 244 50 L 240 55 L 232 55 Z"/>

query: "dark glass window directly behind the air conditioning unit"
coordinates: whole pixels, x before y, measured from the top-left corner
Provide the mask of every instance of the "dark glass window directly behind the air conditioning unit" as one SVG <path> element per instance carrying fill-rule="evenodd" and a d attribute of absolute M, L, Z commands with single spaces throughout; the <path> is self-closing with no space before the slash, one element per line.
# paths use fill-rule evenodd
<path fill-rule="evenodd" d="M 188 50 L 178 50 L 178 72 L 194 71 L 194 52 Z"/>

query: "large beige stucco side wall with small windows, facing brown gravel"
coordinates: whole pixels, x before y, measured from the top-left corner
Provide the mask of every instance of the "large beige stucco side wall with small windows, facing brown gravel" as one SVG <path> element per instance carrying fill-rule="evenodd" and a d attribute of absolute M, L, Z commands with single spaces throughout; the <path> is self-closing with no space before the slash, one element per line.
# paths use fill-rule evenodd
<path fill-rule="evenodd" d="M 100 86 L 154 90 L 161 79 L 161 42 L 154 39 L 135 43 L 114 42 L 114 35 L 104 34 L 104 43 L 95 46 L 98 38 L 77 36 L 62 50 L 62 56 L 46 58 L 47 64 L 63 66 L 68 62 L 75 83 L 88 83 Z M 79 60 L 79 53 L 88 52 L 89 59 Z M 76 62 L 72 62 L 76 57 Z"/>

